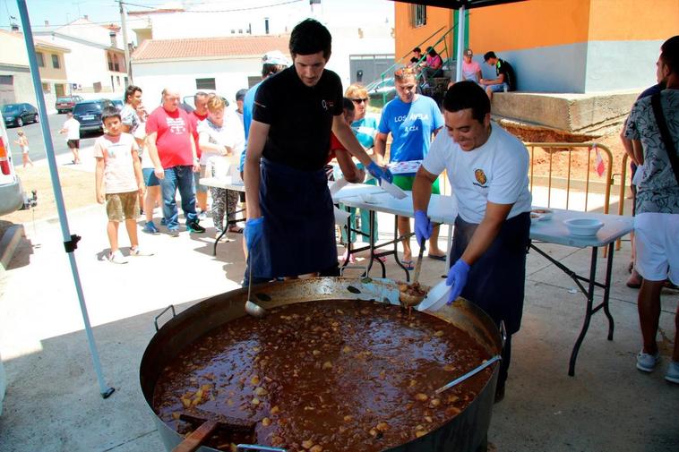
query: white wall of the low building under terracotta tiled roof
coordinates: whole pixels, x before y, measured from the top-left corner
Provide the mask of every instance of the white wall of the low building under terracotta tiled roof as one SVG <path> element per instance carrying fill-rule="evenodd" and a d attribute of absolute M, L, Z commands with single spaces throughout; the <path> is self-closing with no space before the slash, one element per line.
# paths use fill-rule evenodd
<path fill-rule="evenodd" d="M 182 97 L 192 96 L 197 90 L 196 79 L 215 79 L 215 88 L 236 102 L 236 91 L 247 88 L 248 77 L 262 76 L 259 57 L 201 61 L 139 63 L 133 62 L 134 84 L 142 88 L 147 109 L 160 105 L 160 93 L 167 87 L 179 90 Z"/>

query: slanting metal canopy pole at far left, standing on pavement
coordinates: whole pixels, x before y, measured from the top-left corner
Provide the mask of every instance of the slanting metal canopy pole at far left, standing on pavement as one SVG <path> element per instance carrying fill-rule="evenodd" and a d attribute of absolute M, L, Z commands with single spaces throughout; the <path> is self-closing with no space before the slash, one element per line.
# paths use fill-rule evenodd
<path fill-rule="evenodd" d="M 23 38 L 26 42 L 26 51 L 29 56 L 30 78 L 33 81 L 33 89 L 35 90 L 36 100 L 38 101 L 38 111 L 40 114 L 40 128 L 42 129 L 42 137 L 45 141 L 45 150 L 47 151 L 47 163 L 49 164 L 49 175 L 52 179 L 52 190 L 55 192 L 56 211 L 59 214 L 59 223 L 61 225 L 62 235 L 64 236 L 64 247 L 68 254 L 68 260 L 71 263 L 71 272 L 73 273 L 73 283 L 75 284 L 75 291 L 78 294 L 78 302 L 82 311 L 82 320 L 85 323 L 85 332 L 87 340 L 90 345 L 90 354 L 92 355 L 92 362 L 94 362 L 94 371 L 97 374 L 99 381 L 99 393 L 101 397 L 108 398 L 116 390 L 108 388 L 104 382 L 104 377 L 101 372 L 101 362 L 99 362 L 99 353 L 97 352 L 97 345 L 94 342 L 94 335 L 90 326 L 90 317 L 87 313 L 87 305 L 85 305 L 85 296 L 82 293 L 82 285 L 78 267 L 75 262 L 73 251 L 77 248 L 77 243 L 80 240 L 78 235 L 71 235 L 68 228 L 68 217 L 66 217 L 66 209 L 64 206 L 64 194 L 61 192 L 61 183 L 59 182 L 59 172 L 56 168 L 55 147 L 52 142 L 52 135 L 49 132 L 49 121 L 47 119 L 47 107 L 45 106 L 45 97 L 42 94 L 42 82 L 40 81 L 40 72 L 38 69 L 38 59 L 35 55 L 35 47 L 33 44 L 33 31 L 30 29 L 29 11 L 26 7 L 26 0 L 17 0 L 19 7 L 19 14 L 21 15 L 21 25 L 23 26 Z"/>

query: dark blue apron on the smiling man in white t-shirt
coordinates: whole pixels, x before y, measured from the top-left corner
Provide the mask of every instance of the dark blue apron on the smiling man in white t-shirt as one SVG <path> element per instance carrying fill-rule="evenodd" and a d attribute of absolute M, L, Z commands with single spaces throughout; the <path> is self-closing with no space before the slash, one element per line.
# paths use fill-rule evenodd
<path fill-rule="evenodd" d="M 451 264 L 460 259 L 477 226 L 460 216 L 455 219 Z M 510 335 L 521 325 L 529 234 L 529 212 L 505 220 L 493 243 L 469 270 L 461 294 L 486 311 L 496 324 L 504 320 Z"/>

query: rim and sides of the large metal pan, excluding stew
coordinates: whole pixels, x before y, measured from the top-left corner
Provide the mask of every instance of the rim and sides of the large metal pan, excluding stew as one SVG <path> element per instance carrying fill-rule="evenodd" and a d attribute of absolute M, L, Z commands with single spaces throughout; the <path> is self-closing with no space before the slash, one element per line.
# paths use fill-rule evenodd
<path fill-rule="evenodd" d="M 398 294 L 393 282 L 348 277 L 320 277 L 298 279 L 282 283 L 269 283 L 253 287 L 252 298 L 264 309 L 290 303 L 313 303 L 320 300 L 386 300 L 387 294 Z M 153 412 L 153 391 L 159 375 L 176 354 L 186 345 L 228 321 L 245 316 L 246 289 L 219 294 L 194 304 L 162 326 L 151 338 L 142 357 L 139 378 L 142 393 L 155 419 L 158 431 L 168 451 L 176 447 L 183 437 L 170 428 Z M 398 299 L 393 301 L 398 303 Z M 167 310 L 166 310 L 167 311 Z M 174 308 L 173 308 L 174 315 Z M 488 354 L 500 354 L 502 339 L 498 328 L 484 311 L 476 305 L 460 301 L 445 306 L 435 315 L 451 322 L 477 340 Z M 401 444 L 388 452 L 476 452 L 486 450 L 486 433 L 490 425 L 494 403 L 495 384 L 499 366 L 494 366 L 493 376 L 473 402 L 441 428 L 425 436 Z M 203 446 L 199 452 L 216 452 Z M 387 451 L 385 451 L 387 452 Z"/>

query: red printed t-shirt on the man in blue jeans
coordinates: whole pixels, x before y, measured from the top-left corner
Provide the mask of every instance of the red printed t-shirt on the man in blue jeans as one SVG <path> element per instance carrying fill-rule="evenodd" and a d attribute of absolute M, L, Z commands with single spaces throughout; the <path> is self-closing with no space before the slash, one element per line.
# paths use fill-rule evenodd
<path fill-rule="evenodd" d="M 153 132 L 158 132 L 156 147 L 163 169 L 193 166 L 193 124 L 184 110 L 177 108 L 168 112 L 163 107 L 153 110 L 146 120 L 146 133 Z"/>

